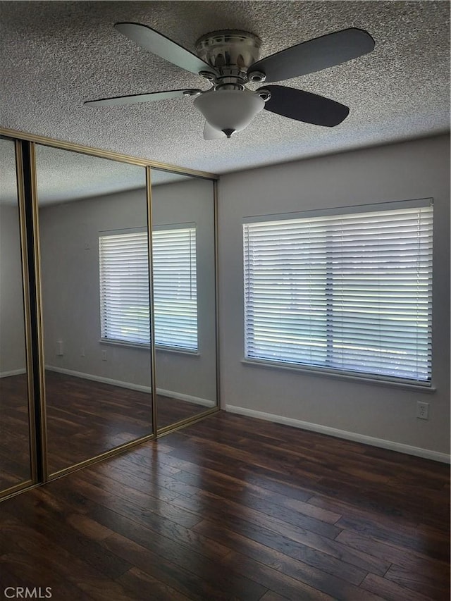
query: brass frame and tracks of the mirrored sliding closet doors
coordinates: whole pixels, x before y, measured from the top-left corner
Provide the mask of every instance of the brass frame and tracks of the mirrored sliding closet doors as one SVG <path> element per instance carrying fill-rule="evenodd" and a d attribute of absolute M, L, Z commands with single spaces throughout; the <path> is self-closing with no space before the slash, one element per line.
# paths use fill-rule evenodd
<path fill-rule="evenodd" d="M 16 130 L 0 128 L 0 136 L 8 138 L 15 144 L 16 175 L 18 184 L 19 216 L 20 216 L 20 246 L 22 250 L 22 271 L 25 312 L 25 345 L 28 384 L 28 407 L 30 415 L 30 471 L 31 478 L 19 485 L 0 490 L 0 500 L 16 495 L 37 485 L 54 480 L 84 466 L 88 466 L 113 455 L 119 454 L 147 440 L 194 423 L 219 410 L 219 373 L 218 373 L 218 242 L 217 242 L 217 204 L 218 204 L 218 175 L 191 169 L 179 168 L 156 161 L 147 161 L 133 156 L 104 151 L 80 144 L 62 142 L 48 137 L 31 135 Z M 35 145 L 42 144 L 55 149 L 73 151 L 80 154 L 96 156 L 101 159 L 111 159 L 121 163 L 141 166 L 145 169 L 146 198 L 147 198 L 147 228 L 149 243 L 149 315 L 151 332 L 154 332 L 154 306 L 152 290 L 152 169 L 168 173 L 190 175 L 193 178 L 211 180 L 213 182 L 214 204 L 214 265 L 215 265 L 215 317 L 216 317 L 216 407 L 202 411 L 192 418 L 176 421 L 170 426 L 157 428 L 156 414 L 156 381 L 155 381 L 155 345 L 151 335 L 150 355 L 152 371 L 152 433 L 137 438 L 111 450 L 97 454 L 94 457 L 73 464 L 49 474 L 47 470 L 47 421 L 44 388 L 44 332 L 42 318 L 42 279 L 39 249 L 39 215 L 37 205 L 37 166 Z"/>

